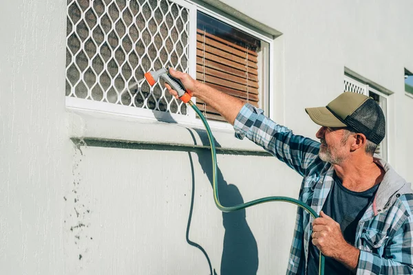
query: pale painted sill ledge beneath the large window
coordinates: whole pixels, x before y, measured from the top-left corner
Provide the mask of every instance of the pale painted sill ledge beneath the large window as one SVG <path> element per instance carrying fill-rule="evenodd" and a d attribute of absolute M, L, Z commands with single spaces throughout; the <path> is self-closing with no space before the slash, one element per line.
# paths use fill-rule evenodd
<path fill-rule="evenodd" d="M 162 122 L 156 118 L 136 118 L 127 115 L 114 115 L 99 111 L 73 109 L 67 107 L 67 129 L 72 140 L 88 144 L 121 142 L 145 146 L 167 146 L 171 148 L 209 148 L 207 131 L 202 125 L 186 122 Z M 217 153 L 242 155 L 269 155 L 263 148 L 248 139 L 238 140 L 234 131 L 212 129 Z M 95 145 L 99 146 L 99 145 Z M 105 145 L 102 145 L 105 146 Z"/>

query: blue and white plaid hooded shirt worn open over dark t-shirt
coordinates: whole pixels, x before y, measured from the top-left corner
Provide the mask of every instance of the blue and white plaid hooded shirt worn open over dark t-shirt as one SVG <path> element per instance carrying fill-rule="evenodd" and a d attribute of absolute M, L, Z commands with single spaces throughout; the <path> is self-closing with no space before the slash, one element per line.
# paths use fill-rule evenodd
<path fill-rule="evenodd" d="M 334 184 L 334 168 L 319 156 L 319 142 L 294 135 L 245 104 L 234 122 L 235 136 L 252 140 L 304 177 L 299 200 L 319 213 Z M 357 274 L 413 274 L 413 195 L 408 184 L 378 157 L 385 176 L 361 217 L 354 247 L 361 250 Z M 305 274 L 313 217 L 297 210 L 287 274 Z"/>

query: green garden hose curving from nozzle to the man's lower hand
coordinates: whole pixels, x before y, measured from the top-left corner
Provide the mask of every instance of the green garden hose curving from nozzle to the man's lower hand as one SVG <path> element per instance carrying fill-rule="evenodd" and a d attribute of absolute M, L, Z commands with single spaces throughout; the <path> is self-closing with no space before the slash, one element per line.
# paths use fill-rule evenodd
<path fill-rule="evenodd" d="M 316 219 L 318 217 L 318 214 L 312 208 L 307 206 L 302 201 L 299 201 L 297 199 L 293 199 L 293 198 L 290 198 L 290 197 L 280 197 L 280 196 L 264 197 L 262 199 L 255 199 L 253 201 L 248 201 L 246 203 L 241 203 L 241 204 L 238 204 L 236 206 L 229 206 L 229 207 L 222 206 L 222 204 L 220 203 L 220 197 L 218 196 L 218 188 L 217 188 L 217 170 L 218 169 L 217 169 L 217 159 L 216 159 L 215 142 L 213 140 L 213 135 L 212 135 L 211 129 L 209 128 L 209 124 L 208 124 L 207 120 L 204 118 L 204 115 L 202 115 L 200 109 L 198 109 L 198 107 L 196 107 L 196 105 L 193 104 L 192 100 L 189 100 L 188 104 L 191 105 L 191 107 L 199 115 L 199 117 L 202 120 L 202 123 L 205 126 L 205 129 L 207 129 L 209 144 L 211 144 L 211 155 L 212 155 L 213 199 L 215 201 L 215 205 L 218 207 L 219 210 L 221 210 L 222 212 L 232 212 L 232 211 L 240 210 L 240 209 L 247 208 L 247 207 L 250 207 L 250 206 L 255 206 L 256 204 L 265 203 L 265 202 L 268 202 L 268 201 L 284 201 L 284 202 L 288 202 L 288 203 L 294 203 L 295 205 L 297 205 L 301 208 L 304 208 L 305 210 L 307 210 L 314 217 L 314 219 Z M 320 257 L 319 257 L 319 275 L 324 275 L 324 255 L 321 254 L 321 252 L 320 252 Z"/>

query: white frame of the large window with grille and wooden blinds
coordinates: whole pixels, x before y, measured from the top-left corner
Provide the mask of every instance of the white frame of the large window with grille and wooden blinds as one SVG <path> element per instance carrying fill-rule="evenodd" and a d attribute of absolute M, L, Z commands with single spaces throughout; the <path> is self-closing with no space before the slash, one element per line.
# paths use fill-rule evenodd
<path fill-rule="evenodd" d="M 262 98 L 264 99 L 264 102 L 262 102 L 262 106 L 264 109 L 268 112 L 268 114 L 273 113 L 273 85 L 274 85 L 274 80 L 272 76 L 272 68 L 274 65 L 274 58 L 273 58 L 273 39 L 271 39 L 271 36 L 266 36 L 264 34 L 261 34 L 259 32 L 256 32 L 255 30 L 252 30 L 252 28 L 247 28 L 246 26 L 237 23 L 231 19 L 226 18 L 224 15 L 209 10 L 205 8 L 204 6 L 194 3 L 192 1 L 184 1 L 184 0 L 169 0 L 173 3 L 176 3 L 178 5 L 181 5 L 184 8 L 187 8 L 189 10 L 189 37 L 188 37 L 188 43 L 189 43 L 189 58 L 188 58 L 188 64 L 189 64 L 189 75 L 191 77 L 196 78 L 196 26 L 197 26 L 197 12 L 198 10 L 200 12 L 203 12 L 204 14 L 208 14 L 211 17 L 214 17 L 215 19 L 218 19 L 224 23 L 227 23 L 234 28 L 237 28 L 239 30 L 242 30 L 246 32 L 247 34 L 251 34 L 252 36 L 255 36 L 257 39 L 260 39 L 262 41 L 265 41 L 269 45 L 268 49 L 268 69 L 264 67 L 264 70 L 268 70 L 266 72 L 263 72 L 264 74 L 267 75 L 268 79 L 266 82 L 268 83 L 266 85 L 267 90 L 264 90 L 265 95 L 262 95 Z M 196 98 L 193 98 L 193 101 L 195 102 Z M 109 102 L 100 102 L 100 101 L 94 101 L 94 100 L 87 100 L 83 98 L 73 98 L 69 96 L 65 96 L 65 104 L 68 109 L 73 109 L 73 110 L 80 110 L 80 111 L 92 111 L 92 112 L 98 112 L 98 113 L 107 113 L 110 115 L 120 115 L 120 116 L 128 116 L 128 117 L 134 117 L 134 118 L 144 118 L 148 120 L 162 120 L 164 122 L 178 122 L 182 124 L 187 124 L 190 126 L 202 126 L 202 121 L 199 119 L 195 118 L 195 111 L 193 111 L 192 108 L 189 106 L 187 107 L 187 115 L 180 115 L 176 113 L 169 113 L 166 111 L 157 111 L 157 110 L 151 110 L 151 109 L 143 109 L 143 108 L 138 108 L 138 107 L 129 107 L 121 104 L 114 104 L 114 103 L 109 103 Z M 218 121 L 209 121 L 209 124 L 212 128 L 215 129 L 233 129 L 233 127 L 226 123 L 226 122 L 218 122 Z"/>

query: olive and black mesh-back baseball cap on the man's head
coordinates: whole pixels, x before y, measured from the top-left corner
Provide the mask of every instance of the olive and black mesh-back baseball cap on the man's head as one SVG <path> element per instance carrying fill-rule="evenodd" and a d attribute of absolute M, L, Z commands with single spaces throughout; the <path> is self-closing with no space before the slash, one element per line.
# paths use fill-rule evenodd
<path fill-rule="evenodd" d="M 379 144 L 385 135 L 385 118 L 373 98 L 350 91 L 340 94 L 326 107 L 306 108 L 313 122 L 326 127 L 350 127 Z"/>

